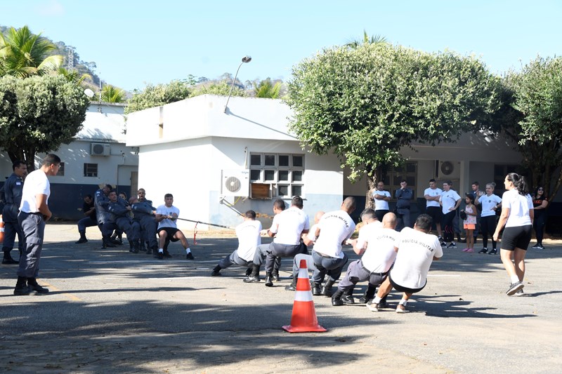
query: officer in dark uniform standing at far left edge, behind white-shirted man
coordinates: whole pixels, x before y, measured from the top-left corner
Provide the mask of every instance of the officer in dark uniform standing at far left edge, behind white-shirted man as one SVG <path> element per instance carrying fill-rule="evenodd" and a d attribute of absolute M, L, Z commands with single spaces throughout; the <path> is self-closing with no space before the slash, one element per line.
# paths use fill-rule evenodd
<path fill-rule="evenodd" d="M 2 210 L 2 219 L 5 222 L 4 246 L 2 247 L 2 251 L 4 251 L 3 265 L 13 265 L 19 262 L 14 260 L 10 254 L 15 241 L 15 234 L 18 234 L 20 255 L 22 253 L 23 238 L 20 224 L 18 223 L 18 211 L 22 201 L 23 179 L 27 175 L 27 165 L 25 162 L 17 160 L 13 162 L 12 169 L 12 175 L 6 180 L 4 189 L 1 190 L 4 194 L 4 198 L 1 200 L 6 204 Z"/>

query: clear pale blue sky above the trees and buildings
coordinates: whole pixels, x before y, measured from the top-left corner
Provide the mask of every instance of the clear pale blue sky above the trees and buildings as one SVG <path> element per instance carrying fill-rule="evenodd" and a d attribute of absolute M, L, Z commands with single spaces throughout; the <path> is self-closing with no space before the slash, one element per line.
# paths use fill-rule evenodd
<path fill-rule="evenodd" d="M 421 51 L 476 55 L 492 72 L 561 55 L 562 1 L 0 0 L 0 25 L 41 32 L 128 91 L 188 74 L 287 80 L 322 48 L 385 36 Z M 520 62 L 521 61 L 521 62 Z"/>

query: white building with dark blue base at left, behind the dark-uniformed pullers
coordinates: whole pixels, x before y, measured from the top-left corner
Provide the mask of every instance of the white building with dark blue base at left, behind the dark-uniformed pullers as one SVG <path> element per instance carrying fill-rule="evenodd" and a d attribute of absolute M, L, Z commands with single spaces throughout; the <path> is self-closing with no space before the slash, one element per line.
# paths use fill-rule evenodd
<path fill-rule="evenodd" d="M 86 112 L 84 127 L 74 140 L 52 151 L 62 160 L 59 175 L 49 178 L 49 207 L 55 218 L 82 218 L 82 196 L 93 195 L 107 183 L 119 192 L 126 192 L 127 196 L 132 185 L 136 193 L 138 149 L 125 145 L 124 107 L 124 104 L 118 103 L 92 102 Z M 36 168 L 44 156 L 35 156 Z M 8 155 L 1 152 L 2 182 L 11 175 L 11 166 Z"/>

